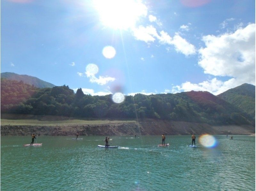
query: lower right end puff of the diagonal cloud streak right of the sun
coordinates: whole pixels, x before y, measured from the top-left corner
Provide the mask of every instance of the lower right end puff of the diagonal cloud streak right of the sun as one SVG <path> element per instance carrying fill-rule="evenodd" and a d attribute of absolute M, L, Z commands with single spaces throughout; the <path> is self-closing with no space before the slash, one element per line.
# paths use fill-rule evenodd
<path fill-rule="evenodd" d="M 182 38 L 178 33 L 174 35 L 172 44 L 175 46 L 177 52 L 181 52 L 186 56 L 196 54 L 195 46 Z"/>

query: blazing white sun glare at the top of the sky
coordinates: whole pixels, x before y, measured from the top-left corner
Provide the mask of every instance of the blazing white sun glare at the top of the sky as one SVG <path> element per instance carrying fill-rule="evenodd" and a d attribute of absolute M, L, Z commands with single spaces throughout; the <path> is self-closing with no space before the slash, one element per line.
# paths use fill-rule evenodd
<path fill-rule="evenodd" d="M 94 0 L 100 20 L 106 27 L 128 29 L 141 16 L 147 16 L 147 7 L 139 0 Z"/>

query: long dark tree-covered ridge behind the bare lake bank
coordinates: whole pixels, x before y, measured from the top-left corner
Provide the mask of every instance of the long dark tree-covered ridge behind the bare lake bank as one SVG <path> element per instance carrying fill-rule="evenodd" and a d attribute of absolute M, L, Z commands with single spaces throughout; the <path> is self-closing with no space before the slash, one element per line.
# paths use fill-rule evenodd
<path fill-rule="evenodd" d="M 112 95 L 84 95 L 68 86 L 35 88 L 22 81 L 1 79 L 1 112 L 56 115 L 76 118 L 159 118 L 208 124 L 253 124 L 236 106 L 209 92 L 182 92 L 125 96 L 114 103 Z"/>

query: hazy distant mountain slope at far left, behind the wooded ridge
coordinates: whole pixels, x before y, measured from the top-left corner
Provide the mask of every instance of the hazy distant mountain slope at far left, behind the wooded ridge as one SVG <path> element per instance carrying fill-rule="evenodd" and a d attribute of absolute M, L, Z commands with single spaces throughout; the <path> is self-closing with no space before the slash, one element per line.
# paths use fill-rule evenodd
<path fill-rule="evenodd" d="M 34 85 L 37 88 L 52 88 L 55 85 L 46 82 L 44 80 L 40 80 L 39 78 L 28 76 L 28 75 L 20 75 L 12 72 L 4 72 L 1 73 L 1 78 L 6 78 L 9 80 L 23 81 L 26 84 Z"/>

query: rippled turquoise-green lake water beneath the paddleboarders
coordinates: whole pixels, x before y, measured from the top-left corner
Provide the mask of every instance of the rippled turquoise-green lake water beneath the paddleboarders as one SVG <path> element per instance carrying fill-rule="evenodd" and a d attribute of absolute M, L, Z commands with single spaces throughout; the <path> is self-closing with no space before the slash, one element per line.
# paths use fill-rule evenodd
<path fill-rule="evenodd" d="M 79 136 L 82 138 L 82 136 Z M 1 136 L 1 190 L 255 190 L 255 137 L 215 136 L 205 148 L 190 136 Z M 35 141 L 36 142 L 36 141 Z"/>

